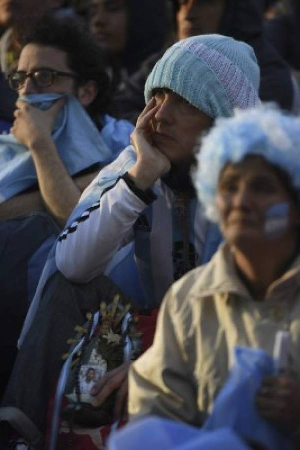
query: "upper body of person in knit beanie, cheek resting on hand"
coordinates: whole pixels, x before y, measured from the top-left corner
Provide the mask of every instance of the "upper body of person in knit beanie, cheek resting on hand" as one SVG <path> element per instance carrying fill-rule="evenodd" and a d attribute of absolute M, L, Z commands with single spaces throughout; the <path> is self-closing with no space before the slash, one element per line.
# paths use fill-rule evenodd
<path fill-rule="evenodd" d="M 174 280 L 210 259 L 221 236 L 191 183 L 194 147 L 217 117 L 260 104 L 259 77 L 252 48 L 230 37 L 195 36 L 166 51 L 146 82 L 132 145 L 100 171 L 82 197 L 95 193 L 95 204 L 59 238 L 56 264 L 65 278 L 82 283 L 108 273 L 138 307 L 151 309 Z M 100 406 L 100 388 L 95 395 Z"/>

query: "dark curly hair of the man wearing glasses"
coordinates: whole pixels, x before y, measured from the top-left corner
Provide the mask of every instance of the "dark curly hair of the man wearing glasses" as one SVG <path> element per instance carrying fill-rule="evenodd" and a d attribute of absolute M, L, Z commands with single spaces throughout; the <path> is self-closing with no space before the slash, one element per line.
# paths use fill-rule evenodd
<path fill-rule="evenodd" d="M 22 46 L 29 43 L 64 51 L 68 67 L 78 76 L 77 87 L 89 80 L 97 82 L 99 91 L 87 108 L 89 114 L 106 112 L 110 85 L 103 51 L 81 23 L 73 18 L 58 19 L 47 15 L 23 36 Z"/>

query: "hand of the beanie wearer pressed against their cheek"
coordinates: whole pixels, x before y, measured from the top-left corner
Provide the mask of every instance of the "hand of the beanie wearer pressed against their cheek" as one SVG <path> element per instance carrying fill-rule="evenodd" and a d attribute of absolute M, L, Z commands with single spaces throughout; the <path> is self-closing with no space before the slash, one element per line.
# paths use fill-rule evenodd
<path fill-rule="evenodd" d="M 170 170 L 169 159 L 154 145 L 151 120 L 158 110 L 155 98 L 151 98 L 136 122 L 131 134 L 131 143 L 137 154 L 137 161 L 128 171 L 135 184 L 142 190 L 151 187 Z"/>

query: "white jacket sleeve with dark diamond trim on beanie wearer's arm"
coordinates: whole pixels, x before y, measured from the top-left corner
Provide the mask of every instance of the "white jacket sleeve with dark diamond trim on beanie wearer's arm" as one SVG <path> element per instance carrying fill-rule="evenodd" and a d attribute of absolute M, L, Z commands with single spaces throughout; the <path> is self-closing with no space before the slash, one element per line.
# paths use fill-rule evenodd
<path fill-rule="evenodd" d="M 146 206 L 120 178 L 61 233 L 58 269 L 75 282 L 103 273 L 115 252 L 133 238 L 133 225 Z"/>

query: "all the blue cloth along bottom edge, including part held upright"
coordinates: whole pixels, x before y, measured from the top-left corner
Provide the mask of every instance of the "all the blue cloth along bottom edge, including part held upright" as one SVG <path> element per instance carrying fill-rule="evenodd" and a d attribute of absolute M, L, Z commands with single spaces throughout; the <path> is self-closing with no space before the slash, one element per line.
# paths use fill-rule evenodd
<path fill-rule="evenodd" d="M 256 395 L 265 376 L 275 375 L 277 361 L 264 350 L 235 347 L 234 367 L 217 396 L 212 415 L 201 429 L 158 417 L 126 426 L 109 439 L 109 450 L 243 450 L 256 444 L 266 450 L 291 450 L 292 439 L 257 411 Z M 246 443 L 247 442 L 247 443 Z"/>

